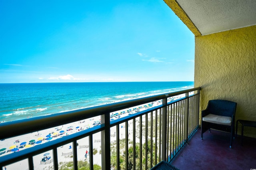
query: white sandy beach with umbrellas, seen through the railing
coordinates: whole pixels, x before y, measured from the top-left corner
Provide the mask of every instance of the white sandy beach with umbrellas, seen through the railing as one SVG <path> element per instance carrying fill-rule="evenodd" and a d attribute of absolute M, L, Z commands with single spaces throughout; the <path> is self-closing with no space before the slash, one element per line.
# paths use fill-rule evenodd
<path fill-rule="evenodd" d="M 132 114 L 132 113 L 136 113 L 138 111 L 143 111 L 150 107 L 157 106 L 160 103 L 161 103 L 160 101 L 156 101 L 154 103 L 150 103 L 150 104 L 146 105 L 146 107 L 145 107 L 145 105 L 140 105 L 140 106 L 137 106 L 136 109 L 128 108 L 128 110 L 130 110 L 129 112 L 127 111 L 127 109 L 124 109 L 122 111 L 118 111 L 118 113 L 122 113 L 122 114 L 119 114 L 118 116 L 115 116 L 114 115 L 115 113 L 113 113 L 113 117 L 110 119 L 114 120 L 114 119 L 118 119 L 120 117 L 125 117 L 129 113 Z M 112 115 L 112 113 L 111 113 L 111 115 Z M 87 128 L 93 127 L 94 123 L 99 122 L 99 121 L 100 121 L 100 117 L 94 117 L 90 120 L 69 123 L 66 125 L 59 126 L 59 127 L 53 127 L 53 128 L 49 128 L 46 130 L 40 130 L 38 132 L 33 132 L 30 134 L 24 134 L 22 136 L 16 136 L 16 137 L 2 140 L 2 141 L 0 141 L 0 149 L 6 148 L 6 150 L 1 151 L 1 152 L 5 152 L 1 156 L 4 156 L 6 154 L 13 154 L 14 150 L 17 150 L 16 152 L 18 152 L 20 150 L 26 149 L 27 147 L 33 147 L 38 144 L 43 144 L 45 142 L 55 140 L 56 138 L 62 138 L 65 135 L 69 135 L 69 134 L 78 132 L 80 130 L 85 130 Z M 124 125 L 125 124 L 123 123 L 121 125 L 121 127 L 124 127 Z M 116 136 L 114 136 L 113 134 L 114 134 L 114 131 L 111 132 L 111 138 L 110 138 L 111 141 L 116 140 Z M 125 128 L 120 128 L 120 138 L 125 138 Z M 132 132 L 130 133 L 129 138 L 132 140 Z M 96 154 L 93 155 L 93 162 L 94 162 L 94 164 L 98 164 L 101 166 L 101 154 L 100 154 L 101 142 L 100 142 L 100 140 L 101 140 L 100 132 L 93 134 L 93 148 L 98 151 Z M 86 150 L 89 151 L 89 148 L 88 148 L 89 138 L 88 137 L 82 138 L 82 139 L 78 140 L 77 142 L 78 142 L 78 146 L 76 146 L 76 147 L 77 147 L 78 160 L 90 161 L 90 156 L 92 155 L 92 153 L 90 153 L 90 154 L 88 153 L 87 158 L 85 157 Z M 20 144 L 23 144 L 23 145 L 20 145 Z M 30 145 L 30 144 L 32 144 L 32 145 Z M 17 149 L 15 149 L 15 148 L 17 148 Z M 44 154 L 46 154 L 47 157 L 51 157 L 50 160 L 46 161 L 47 164 L 44 164 L 45 162 L 41 162 L 42 158 L 45 157 Z M 58 154 L 58 164 L 61 164 L 61 162 L 73 161 L 72 143 L 65 144 L 65 145 L 57 148 L 57 154 Z M 35 170 L 53 169 L 53 162 L 52 162 L 53 159 L 52 158 L 53 158 L 52 150 L 49 150 L 48 152 L 44 152 L 44 153 L 34 156 L 33 157 L 34 169 Z M 16 169 L 27 170 L 28 169 L 28 160 L 25 159 L 25 160 L 16 162 L 14 164 L 6 165 L 6 170 L 16 170 Z M 4 168 L 3 168 L 3 170 L 4 170 Z"/>

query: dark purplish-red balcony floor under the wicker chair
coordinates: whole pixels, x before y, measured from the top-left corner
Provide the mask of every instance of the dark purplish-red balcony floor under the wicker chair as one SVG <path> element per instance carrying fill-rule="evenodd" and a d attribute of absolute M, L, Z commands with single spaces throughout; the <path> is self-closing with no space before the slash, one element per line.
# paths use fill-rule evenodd
<path fill-rule="evenodd" d="M 256 138 L 241 137 L 233 140 L 229 148 L 230 134 L 211 130 L 204 132 L 201 140 L 201 129 L 190 138 L 188 144 L 180 150 L 171 164 L 180 170 L 250 170 L 256 168 Z"/>

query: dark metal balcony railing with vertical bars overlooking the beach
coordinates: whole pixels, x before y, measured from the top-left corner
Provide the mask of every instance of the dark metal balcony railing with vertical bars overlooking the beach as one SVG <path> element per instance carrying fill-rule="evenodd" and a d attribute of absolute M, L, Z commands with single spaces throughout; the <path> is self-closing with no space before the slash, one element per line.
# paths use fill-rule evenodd
<path fill-rule="evenodd" d="M 100 119 L 97 126 L 80 130 L 30 148 L 0 156 L 0 167 L 27 160 L 33 170 L 36 155 L 52 152 L 52 169 L 60 169 L 58 149 L 70 145 L 72 169 L 77 170 L 80 148 L 88 148 L 88 166 L 101 159 L 101 168 L 150 169 L 161 160 L 170 161 L 198 128 L 200 87 L 0 124 L 2 139 L 28 135 L 78 121 Z M 154 104 L 152 104 L 154 103 Z M 122 112 L 120 112 L 122 111 Z M 127 116 L 122 117 L 126 112 Z M 121 116 L 120 116 L 121 115 Z M 115 117 L 120 117 L 116 119 Z M 100 139 L 95 135 L 100 133 Z M 88 142 L 88 144 L 86 144 Z M 100 154 L 94 155 L 100 142 Z M 78 146 L 79 145 L 79 146 Z M 65 153 L 62 153 L 65 154 Z M 101 155 L 101 156 L 99 156 Z M 86 160 L 83 160 L 86 161 Z M 42 163 L 42 162 L 41 162 Z M 25 166 L 23 167 L 25 168 Z M 26 168 L 25 168 L 26 169 Z"/>

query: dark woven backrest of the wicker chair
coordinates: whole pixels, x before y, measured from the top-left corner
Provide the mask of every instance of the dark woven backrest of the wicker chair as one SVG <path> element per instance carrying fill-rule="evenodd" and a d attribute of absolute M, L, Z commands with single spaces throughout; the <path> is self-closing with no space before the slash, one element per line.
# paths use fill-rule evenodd
<path fill-rule="evenodd" d="M 227 100 L 210 100 L 206 110 L 214 115 L 232 117 L 236 114 L 236 103 Z"/>

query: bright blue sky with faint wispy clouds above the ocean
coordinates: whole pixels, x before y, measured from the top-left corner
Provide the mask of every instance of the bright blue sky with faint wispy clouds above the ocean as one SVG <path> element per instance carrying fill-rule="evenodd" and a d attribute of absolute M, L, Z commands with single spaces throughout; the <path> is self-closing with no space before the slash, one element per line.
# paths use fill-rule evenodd
<path fill-rule="evenodd" d="M 163 0 L 1 0 L 0 83 L 194 81 L 194 34 Z"/>

